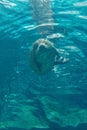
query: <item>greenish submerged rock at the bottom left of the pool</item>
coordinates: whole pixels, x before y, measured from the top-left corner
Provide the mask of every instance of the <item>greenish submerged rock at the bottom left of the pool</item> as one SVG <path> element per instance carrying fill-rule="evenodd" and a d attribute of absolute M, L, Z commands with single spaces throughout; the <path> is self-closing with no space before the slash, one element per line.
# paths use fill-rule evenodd
<path fill-rule="evenodd" d="M 30 101 L 31 104 L 31 101 Z M 20 111 L 14 111 L 14 106 L 11 106 L 12 112 L 7 111 L 8 118 L 0 121 L 0 129 L 32 129 L 32 128 L 48 128 L 48 124 L 43 119 L 39 119 L 33 113 L 37 110 L 36 107 L 32 105 L 17 105 L 15 108 Z M 15 115 L 15 116 L 14 116 Z"/>

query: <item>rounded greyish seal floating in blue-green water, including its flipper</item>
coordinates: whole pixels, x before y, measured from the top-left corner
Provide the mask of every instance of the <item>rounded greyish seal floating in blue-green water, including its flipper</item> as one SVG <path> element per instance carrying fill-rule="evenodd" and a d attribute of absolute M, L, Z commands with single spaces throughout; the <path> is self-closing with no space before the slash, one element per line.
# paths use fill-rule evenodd
<path fill-rule="evenodd" d="M 34 72 L 45 74 L 55 65 L 67 62 L 67 59 L 60 56 L 52 42 L 47 39 L 38 39 L 30 49 L 29 61 Z"/>

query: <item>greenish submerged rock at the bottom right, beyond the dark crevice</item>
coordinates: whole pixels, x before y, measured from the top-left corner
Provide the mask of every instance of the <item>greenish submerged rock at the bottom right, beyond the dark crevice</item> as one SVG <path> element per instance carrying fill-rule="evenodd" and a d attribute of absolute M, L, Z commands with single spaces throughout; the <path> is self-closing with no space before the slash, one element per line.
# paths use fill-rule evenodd
<path fill-rule="evenodd" d="M 87 109 L 73 104 L 71 100 L 59 97 L 56 101 L 54 98 L 44 96 L 41 98 L 41 102 L 51 123 L 57 123 L 62 127 L 77 127 L 82 123 L 87 123 Z"/>

